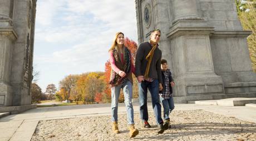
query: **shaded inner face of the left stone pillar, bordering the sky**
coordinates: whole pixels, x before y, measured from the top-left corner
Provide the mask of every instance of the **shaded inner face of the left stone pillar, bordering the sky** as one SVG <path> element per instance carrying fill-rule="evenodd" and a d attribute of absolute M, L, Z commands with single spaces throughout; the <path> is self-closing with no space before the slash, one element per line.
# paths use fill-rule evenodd
<path fill-rule="evenodd" d="M 15 3 L 13 27 L 19 38 L 14 44 L 10 83 L 13 86 L 13 106 L 31 105 L 33 39 L 35 32 L 36 0 Z"/>

